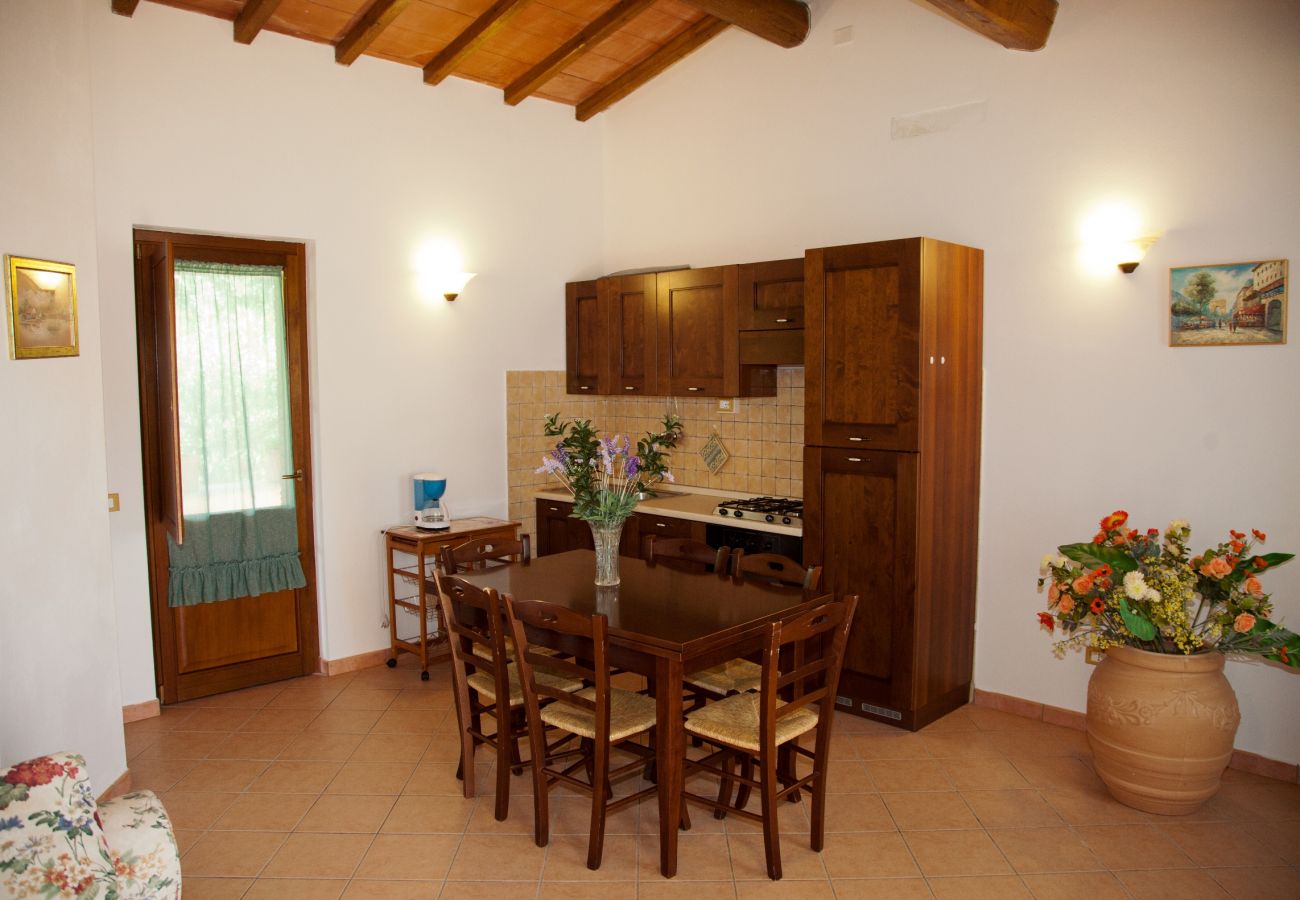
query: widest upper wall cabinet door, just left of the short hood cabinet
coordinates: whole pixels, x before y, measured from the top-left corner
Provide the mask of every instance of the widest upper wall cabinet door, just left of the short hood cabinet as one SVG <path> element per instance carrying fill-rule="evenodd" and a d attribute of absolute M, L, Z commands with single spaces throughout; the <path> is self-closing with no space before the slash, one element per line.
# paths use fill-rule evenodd
<path fill-rule="evenodd" d="M 660 272 L 660 394 L 734 397 L 740 386 L 736 267 Z"/>

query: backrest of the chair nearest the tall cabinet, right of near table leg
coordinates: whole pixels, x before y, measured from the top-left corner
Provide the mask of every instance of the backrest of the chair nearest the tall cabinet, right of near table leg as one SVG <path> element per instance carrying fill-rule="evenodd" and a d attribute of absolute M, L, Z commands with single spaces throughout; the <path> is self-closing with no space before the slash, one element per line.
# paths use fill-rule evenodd
<path fill-rule="evenodd" d="M 858 609 L 854 594 L 831 600 L 801 613 L 788 622 L 774 622 L 763 646 L 763 674 L 759 687 L 759 736 L 775 743 L 776 722 L 798 709 L 815 705 L 818 722 L 829 724 L 835 693 L 844 663 L 849 627 Z M 831 637 L 831 646 L 826 646 Z M 781 671 L 781 657 L 786 657 Z M 777 705 L 777 697 L 784 705 Z M 823 731 L 819 728 L 819 732 Z M 824 730 L 829 734 L 829 730 Z M 822 740 L 822 735 L 818 735 Z"/>

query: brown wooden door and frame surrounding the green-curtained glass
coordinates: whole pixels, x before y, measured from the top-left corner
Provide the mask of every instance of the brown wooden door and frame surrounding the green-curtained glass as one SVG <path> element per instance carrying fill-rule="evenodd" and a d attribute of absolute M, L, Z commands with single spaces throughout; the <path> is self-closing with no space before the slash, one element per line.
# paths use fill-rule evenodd
<path fill-rule="evenodd" d="M 315 672 L 320 659 L 312 527 L 311 423 L 307 389 L 306 248 L 303 245 L 135 232 L 140 427 L 155 667 L 162 702 Z M 168 535 L 183 540 L 176 402 L 173 263 L 280 267 L 294 471 L 294 515 L 304 588 L 256 597 L 168 605 Z"/>

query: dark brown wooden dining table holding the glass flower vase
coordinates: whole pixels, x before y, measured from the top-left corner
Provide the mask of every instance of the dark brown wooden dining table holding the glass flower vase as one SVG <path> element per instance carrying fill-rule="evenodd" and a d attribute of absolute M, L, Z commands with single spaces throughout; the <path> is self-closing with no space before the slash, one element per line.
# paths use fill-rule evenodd
<path fill-rule="evenodd" d="M 610 665 L 650 679 L 656 704 L 659 871 L 666 878 L 677 874 L 685 676 L 759 650 L 772 622 L 785 620 L 807 603 L 828 598 L 801 588 L 684 571 L 630 557 L 620 561 L 619 585 L 597 587 L 592 550 L 469 571 L 462 577 L 520 600 L 606 615 Z"/>

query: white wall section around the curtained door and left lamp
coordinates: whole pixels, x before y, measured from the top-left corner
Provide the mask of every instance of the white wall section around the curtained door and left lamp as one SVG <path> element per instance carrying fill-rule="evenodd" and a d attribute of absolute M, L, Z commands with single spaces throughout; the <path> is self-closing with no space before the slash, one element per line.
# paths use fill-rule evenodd
<path fill-rule="evenodd" d="M 276 34 L 244 47 L 152 3 L 84 14 L 126 701 L 153 697 L 134 225 L 309 242 L 321 653 L 386 646 L 380 532 L 408 514 L 408 476 L 445 472 L 458 515 L 506 514 L 504 371 L 563 367 L 562 285 L 601 255 L 599 125 Z M 455 303 L 417 297 L 433 237 L 480 273 Z"/>

